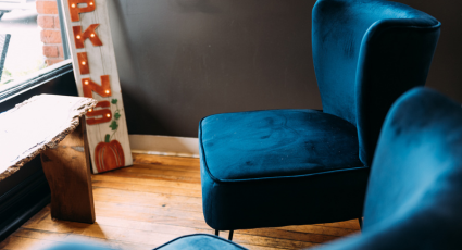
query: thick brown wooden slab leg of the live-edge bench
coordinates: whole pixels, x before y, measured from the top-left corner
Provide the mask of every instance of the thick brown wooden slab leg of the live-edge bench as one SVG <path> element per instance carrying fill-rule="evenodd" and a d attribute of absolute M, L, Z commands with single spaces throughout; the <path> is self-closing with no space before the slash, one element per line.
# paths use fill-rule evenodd
<path fill-rule="evenodd" d="M 85 117 L 57 148 L 41 153 L 51 189 L 51 217 L 95 223 L 93 192 Z"/>

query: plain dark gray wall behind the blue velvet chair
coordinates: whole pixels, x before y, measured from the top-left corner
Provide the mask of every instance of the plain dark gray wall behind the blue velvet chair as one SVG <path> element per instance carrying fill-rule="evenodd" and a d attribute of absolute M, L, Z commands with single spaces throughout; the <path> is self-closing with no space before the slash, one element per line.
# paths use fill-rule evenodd
<path fill-rule="evenodd" d="M 197 137 L 214 113 L 322 109 L 314 0 L 112 0 L 130 134 Z M 462 1 L 401 0 L 442 23 L 427 86 L 462 102 Z"/>

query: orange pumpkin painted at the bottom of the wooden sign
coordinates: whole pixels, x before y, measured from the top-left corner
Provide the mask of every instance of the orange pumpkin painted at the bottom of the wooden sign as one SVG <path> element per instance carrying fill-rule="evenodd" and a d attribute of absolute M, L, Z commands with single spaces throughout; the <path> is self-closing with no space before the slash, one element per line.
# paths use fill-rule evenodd
<path fill-rule="evenodd" d="M 99 142 L 95 149 L 95 163 L 98 173 L 114 170 L 125 165 L 124 150 L 117 140 L 109 140 L 105 136 L 104 142 Z"/>

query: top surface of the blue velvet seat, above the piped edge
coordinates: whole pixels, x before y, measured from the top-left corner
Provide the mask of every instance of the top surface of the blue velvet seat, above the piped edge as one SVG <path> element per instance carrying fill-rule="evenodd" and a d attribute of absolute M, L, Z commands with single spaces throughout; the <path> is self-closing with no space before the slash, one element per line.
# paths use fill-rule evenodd
<path fill-rule="evenodd" d="M 357 128 L 315 110 L 216 114 L 201 122 L 205 167 L 216 179 L 305 175 L 363 166 Z"/>

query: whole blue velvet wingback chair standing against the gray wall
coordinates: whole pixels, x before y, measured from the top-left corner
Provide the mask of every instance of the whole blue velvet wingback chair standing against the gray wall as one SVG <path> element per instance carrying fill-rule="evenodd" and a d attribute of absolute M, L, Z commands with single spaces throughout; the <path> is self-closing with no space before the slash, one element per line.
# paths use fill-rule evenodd
<path fill-rule="evenodd" d="M 312 49 L 324 110 L 200 121 L 203 214 L 215 234 L 361 217 L 385 115 L 424 85 L 439 28 L 401 3 L 319 0 Z"/>

